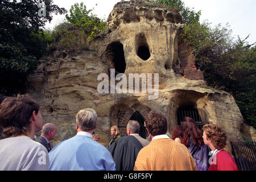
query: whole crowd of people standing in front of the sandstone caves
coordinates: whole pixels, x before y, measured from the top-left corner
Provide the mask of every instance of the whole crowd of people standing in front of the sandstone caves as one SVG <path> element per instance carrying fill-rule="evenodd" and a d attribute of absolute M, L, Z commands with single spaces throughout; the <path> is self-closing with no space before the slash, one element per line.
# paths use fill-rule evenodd
<path fill-rule="evenodd" d="M 226 132 L 217 125 L 205 125 L 202 133 L 193 119 L 185 117 L 170 138 L 167 118 L 152 110 L 144 121 L 150 141 L 139 136 L 140 125 L 131 120 L 125 137 L 119 135 L 117 126 L 111 127 L 113 138 L 106 148 L 97 142 L 97 124 L 95 110 L 80 110 L 77 134 L 51 148 L 49 141 L 57 129 L 52 123 L 43 126 L 38 102 L 27 95 L 7 97 L 0 104 L 0 170 L 238 170 L 223 149 Z M 34 134 L 40 130 L 36 142 Z"/>

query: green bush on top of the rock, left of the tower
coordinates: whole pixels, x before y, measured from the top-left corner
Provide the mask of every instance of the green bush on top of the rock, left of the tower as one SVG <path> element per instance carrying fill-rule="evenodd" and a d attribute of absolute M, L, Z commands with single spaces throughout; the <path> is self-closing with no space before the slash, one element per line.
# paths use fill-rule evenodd
<path fill-rule="evenodd" d="M 49 49 L 88 49 L 89 42 L 106 30 L 106 22 L 86 10 L 84 3 L 75 3 L 63 23 L 51 31 Z"/>

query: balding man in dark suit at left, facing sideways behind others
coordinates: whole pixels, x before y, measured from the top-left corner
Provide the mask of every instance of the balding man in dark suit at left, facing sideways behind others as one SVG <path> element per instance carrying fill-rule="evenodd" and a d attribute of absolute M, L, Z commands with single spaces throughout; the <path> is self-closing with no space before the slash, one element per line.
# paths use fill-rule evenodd
<path fill-rule="evenodd" d="M 56 134 L 56 126 L 52 123 L 46 123 L 41 130 L 41 136 L 36 138 L 36 142 L 41 143 L 44 147 L 47 148 L 48 152 L 52 150 L 49 143 L 50 140 L 53 140 Z"/>

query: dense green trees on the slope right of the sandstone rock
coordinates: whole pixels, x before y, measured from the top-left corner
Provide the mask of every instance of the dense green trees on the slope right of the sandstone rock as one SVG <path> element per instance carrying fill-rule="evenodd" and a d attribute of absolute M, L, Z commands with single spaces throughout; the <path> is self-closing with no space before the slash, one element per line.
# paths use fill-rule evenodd
<path fill-rule="evenodd" d="M 228 24 L 194 23 L 183 28 L 181 39 L 192 46 L 208 84 L 233 94 L 245 120 L 256 127 L 256 48 L 248 36 L 233 41 L 231 32 Z"/>

